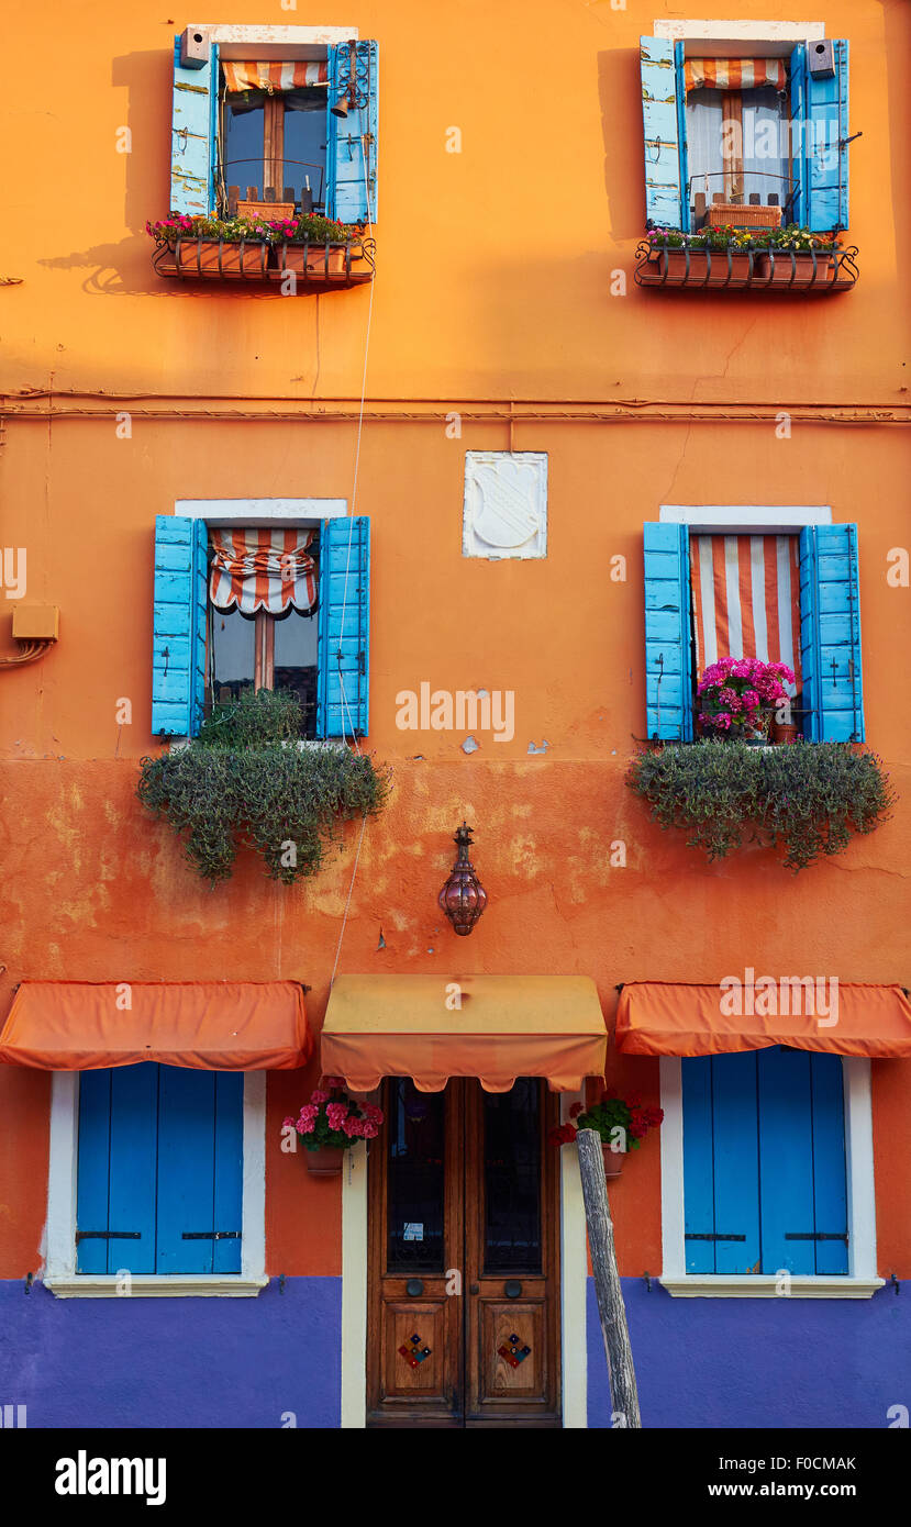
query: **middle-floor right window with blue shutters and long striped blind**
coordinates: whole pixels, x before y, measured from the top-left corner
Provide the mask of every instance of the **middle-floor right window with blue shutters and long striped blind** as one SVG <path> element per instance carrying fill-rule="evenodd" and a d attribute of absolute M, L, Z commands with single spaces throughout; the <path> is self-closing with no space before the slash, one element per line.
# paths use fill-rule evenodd
<path fill-rule="evenodd" d="M 807 741 L 862 742 L 858 527 L 760 534 L 729 515 L 711 533 L 644 527 L 648 736 L 692 741 L 699 673 L 718 657 L 758 657 L 793 669 Z"/>

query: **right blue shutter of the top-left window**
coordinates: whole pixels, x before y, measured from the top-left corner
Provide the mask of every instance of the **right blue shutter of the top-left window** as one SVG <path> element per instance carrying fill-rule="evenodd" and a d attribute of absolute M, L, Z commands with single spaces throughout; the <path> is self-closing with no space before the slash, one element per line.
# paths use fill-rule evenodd
<path fill-rule="evenodd" d="M 355 87 L 361 105 L 349 104 L 347 116 L 333 116 L 350 79 L 350 44 L 329 49 L 329 99 L 326 107 L 326 211 L 341 223 L 376 221 L 376 171 L 379 134 L 379 49 L 355 44 Z"/>

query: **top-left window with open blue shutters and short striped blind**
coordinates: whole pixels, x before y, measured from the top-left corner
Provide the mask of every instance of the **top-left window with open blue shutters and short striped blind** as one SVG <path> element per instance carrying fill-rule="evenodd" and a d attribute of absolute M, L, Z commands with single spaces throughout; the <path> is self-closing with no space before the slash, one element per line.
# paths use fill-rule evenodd
<path fill-rule="evenodd" d="M 190 52 L 174 38 L 171 211 L 225 217 L 248 192 L 287 192 L 297 212 L 376 221 L 376 43 L 338 29 L 327 43 L 324 27 L 188 32 Z"/>

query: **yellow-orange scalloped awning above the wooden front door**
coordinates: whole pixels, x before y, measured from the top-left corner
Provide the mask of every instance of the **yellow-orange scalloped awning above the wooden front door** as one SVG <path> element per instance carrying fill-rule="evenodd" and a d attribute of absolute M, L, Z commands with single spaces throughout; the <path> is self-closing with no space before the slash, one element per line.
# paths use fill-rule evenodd
<path fill-rule="evenodd" d="M 339 976 L 323 1026 L 323 1073 L 371 1092 L 411 1077 L 440 1092 L 477 1077 L 509 1092 L 517 1077 L 546 1077 L 578 1092 L 602 1077 L 607 1029 L 588 976 Z"/>

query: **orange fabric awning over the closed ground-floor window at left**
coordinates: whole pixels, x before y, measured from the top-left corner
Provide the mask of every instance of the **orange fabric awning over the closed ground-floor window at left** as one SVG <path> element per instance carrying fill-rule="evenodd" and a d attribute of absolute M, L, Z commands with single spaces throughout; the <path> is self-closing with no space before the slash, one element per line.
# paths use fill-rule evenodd
<path fill-rule="evenodd" d="M 292 1070 L 312 1049 L 293 980 L 24 980 L 0 1034 L 0 1061 L 40 1070 Z"/>

